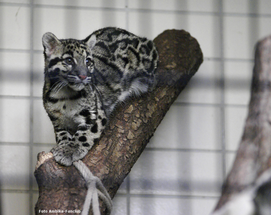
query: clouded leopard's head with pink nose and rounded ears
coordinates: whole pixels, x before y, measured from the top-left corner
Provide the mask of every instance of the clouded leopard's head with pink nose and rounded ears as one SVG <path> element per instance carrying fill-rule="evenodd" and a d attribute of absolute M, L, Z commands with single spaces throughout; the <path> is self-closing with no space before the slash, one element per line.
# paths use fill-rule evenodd
<path fill-rule="evenodd" d="M 47 32 L 42 37 L 45 57 L 45 80 L 51 87 L 59 90 L 70 87 L 75 91 L 83 89 L 90 83 L 90 74 L 94 71 L 92 50 L 96 36 L 88 41 L 75 39 L 59 40 Z"/>

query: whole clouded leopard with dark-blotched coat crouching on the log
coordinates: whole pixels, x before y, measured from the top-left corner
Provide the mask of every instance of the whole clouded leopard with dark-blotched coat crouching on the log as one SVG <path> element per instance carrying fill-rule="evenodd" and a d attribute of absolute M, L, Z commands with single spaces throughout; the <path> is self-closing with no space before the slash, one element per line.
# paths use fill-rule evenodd
<path fill-rule="evenodd" d="M 43 105 L 63 165 L 82 159 L 98 142 L 116 105 L 142 95 L 157 82 L 158 54 L 151 40 L 107 27 L 84 40 L 42 37 L 45 56 Z"/>

